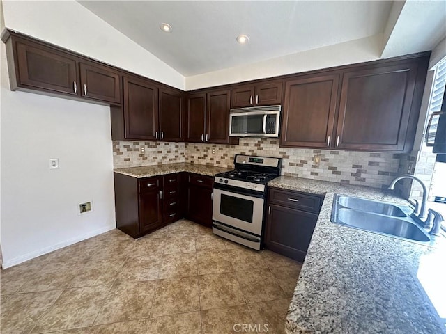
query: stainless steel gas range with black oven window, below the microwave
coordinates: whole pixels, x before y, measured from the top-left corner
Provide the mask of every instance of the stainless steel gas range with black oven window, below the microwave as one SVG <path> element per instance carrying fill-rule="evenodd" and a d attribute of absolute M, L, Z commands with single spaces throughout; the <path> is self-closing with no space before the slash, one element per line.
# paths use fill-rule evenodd
<path fill-rule="evenodd" d="M 213 233 L 260 250 L 266 184 L 280 175 L 282 158 L 236 154 L 234 166 L 235 170 L 215 175 Z"/>

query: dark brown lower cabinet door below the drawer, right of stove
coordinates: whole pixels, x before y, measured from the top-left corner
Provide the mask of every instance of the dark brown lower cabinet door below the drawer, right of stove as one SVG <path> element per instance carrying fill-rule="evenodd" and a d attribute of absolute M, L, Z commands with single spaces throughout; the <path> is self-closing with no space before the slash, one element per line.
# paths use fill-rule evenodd
<path fill-rule="evenodd" d="M 318 214 L 270 205 L 266 223 L 266 248 L 303 262 Z"/>

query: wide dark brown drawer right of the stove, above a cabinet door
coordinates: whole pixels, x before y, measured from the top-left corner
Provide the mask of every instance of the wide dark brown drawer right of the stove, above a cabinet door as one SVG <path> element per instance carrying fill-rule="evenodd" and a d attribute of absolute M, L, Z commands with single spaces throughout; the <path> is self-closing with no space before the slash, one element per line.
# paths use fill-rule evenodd
<path fill-rule="evenodd" d="M 293 209 L 316 213 L 321 210 L 321 196 L 272 188 L 270 189 L 268 198 L 271 203 L 291 207 Z"/>

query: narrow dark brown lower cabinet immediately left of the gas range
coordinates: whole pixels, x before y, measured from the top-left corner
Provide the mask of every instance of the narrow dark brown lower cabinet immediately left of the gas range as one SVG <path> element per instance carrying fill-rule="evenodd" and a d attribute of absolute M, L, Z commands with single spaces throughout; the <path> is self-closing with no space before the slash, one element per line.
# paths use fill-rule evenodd
<path fill-rule="evenodd" d="M 212 227 L 213 177 L 189 175 L 186 217 L 195 223 Z"/>

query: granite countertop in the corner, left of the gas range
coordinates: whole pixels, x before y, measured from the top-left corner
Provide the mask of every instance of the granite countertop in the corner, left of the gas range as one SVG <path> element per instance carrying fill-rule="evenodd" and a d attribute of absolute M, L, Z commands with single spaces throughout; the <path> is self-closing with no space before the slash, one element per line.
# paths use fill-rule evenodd
<path fill-rule="evenodd" d="M 115 173 L 142 178 L 142 177 L 150 177 L 157 175 L 167 175 L 178 172 L 189 172 L 201 175 L 214 176 L 215 174 L 227 172 L 228 170 L 231 169 L 233 168 L 180 163 L 180 164 L 163 164 L 163 165 L 140 166 L 140 167 L 129 167 L 129 168 L 116 168 L 114 171 Z"/>

